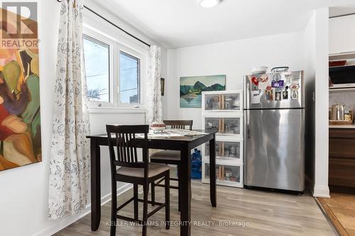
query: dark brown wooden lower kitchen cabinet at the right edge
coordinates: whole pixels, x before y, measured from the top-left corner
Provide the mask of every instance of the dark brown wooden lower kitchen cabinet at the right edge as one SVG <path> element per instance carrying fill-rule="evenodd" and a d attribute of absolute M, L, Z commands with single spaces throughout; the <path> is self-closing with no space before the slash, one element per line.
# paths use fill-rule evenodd
<path fill-rule="evenodd" d="M 355 128 L 329 129 L 329 189 L 355 193 Z"/>

